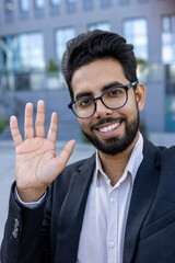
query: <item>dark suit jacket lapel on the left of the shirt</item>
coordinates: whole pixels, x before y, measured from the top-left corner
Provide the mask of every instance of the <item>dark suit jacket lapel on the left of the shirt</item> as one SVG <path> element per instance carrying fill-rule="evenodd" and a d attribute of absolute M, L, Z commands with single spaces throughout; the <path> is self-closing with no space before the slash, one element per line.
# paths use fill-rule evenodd
<path fill-rule="evenodd" d="M 84 209 L 95 167 L 95 156 L 88 159 L 79 171 L 73 172 L 72 180 L 59 217 L 59 239 L 56 258 L 60 263 L 75 263 L 79 238 Z M 60 245 L 60 247 L 59 247 Z"/>

